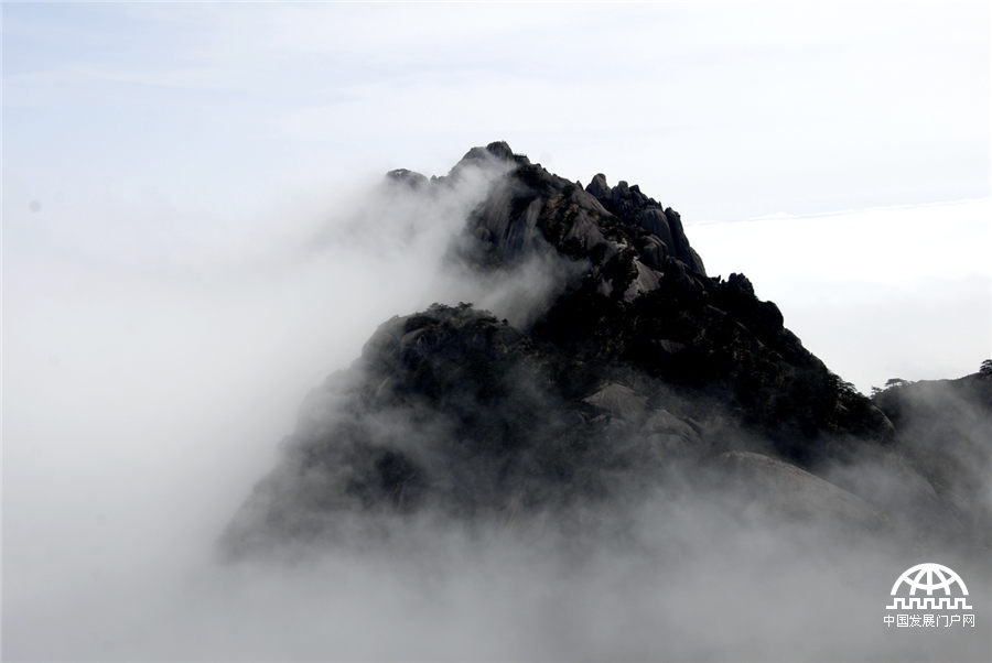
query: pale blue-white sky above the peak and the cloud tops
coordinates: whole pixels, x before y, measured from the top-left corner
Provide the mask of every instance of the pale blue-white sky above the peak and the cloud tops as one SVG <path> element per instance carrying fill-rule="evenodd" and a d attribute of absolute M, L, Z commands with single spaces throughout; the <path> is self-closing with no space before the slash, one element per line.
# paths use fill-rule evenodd
<path fill-rule="evenodd" d="M 73 182 L 278 197 L 496 139 L 690 221 L 989 191 L 985 2 L 4 3 L 3 22 L 14 216 Z"/>

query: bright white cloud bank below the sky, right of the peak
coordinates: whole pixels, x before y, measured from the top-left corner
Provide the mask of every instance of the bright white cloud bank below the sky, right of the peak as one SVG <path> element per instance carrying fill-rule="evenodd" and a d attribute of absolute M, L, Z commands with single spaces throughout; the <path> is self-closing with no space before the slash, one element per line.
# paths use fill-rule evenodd
<path fill-rule="evenodd" d="M 863 392 L 957 378 L 992 355 L 992 198 L 687 229 L 707 270 L 743 272 L 807 348 Z"/>

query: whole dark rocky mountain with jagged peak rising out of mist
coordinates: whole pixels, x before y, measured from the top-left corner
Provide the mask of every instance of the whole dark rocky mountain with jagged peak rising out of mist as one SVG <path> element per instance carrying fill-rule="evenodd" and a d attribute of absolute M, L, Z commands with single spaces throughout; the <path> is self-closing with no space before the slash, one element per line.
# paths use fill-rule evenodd
<path fill-rule="evenodd" d="M 468 169 L 492 177 L 451 240 L 451 268 L 498 276 L 548 258 L 564 265 L 553 295 L 516 326 L 459 302 L 385 322 L 308 398 L 279 466 L 225 533 L 228 554 L 342 544 L 364 524 L 424 513 L 574 513 L 673 475 L 854 528 L 898 528 L 907 509 L 966 539 L 990 522 L 975 476 L 989 437 L 974 433 L 988 431 L 989 374 L 962 405 L 969 432 L 935 433 L 914 413 L 938 396 L 859 393 L 747 278 L 708 275 L 671 207 L 603 174 L 583 187 L 503 142 L 445 177 L 397 170 L 386 186 L 443 195 Z M 866 486 L 862 465 L 898 496 Z"/>

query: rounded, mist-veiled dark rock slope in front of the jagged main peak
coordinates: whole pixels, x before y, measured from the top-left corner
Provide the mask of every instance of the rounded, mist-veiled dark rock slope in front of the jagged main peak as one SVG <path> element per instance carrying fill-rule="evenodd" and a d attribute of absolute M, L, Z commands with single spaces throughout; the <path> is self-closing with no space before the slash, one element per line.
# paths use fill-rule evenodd
<path fill-rule="evenodd" d="M 605 497 L 632 467 L 658 466 L 666 445 L 672 456 L 699 447 L 700 425 L 644 384 L 579 384 L 570 370 L 553 348 L 467 304 L 392 318 L 308 398 L 281 467 L 227 544 L 334 537 L 343 513 L 564 508 Z M 635 444 L 640 430 L 649 436 Z"/>

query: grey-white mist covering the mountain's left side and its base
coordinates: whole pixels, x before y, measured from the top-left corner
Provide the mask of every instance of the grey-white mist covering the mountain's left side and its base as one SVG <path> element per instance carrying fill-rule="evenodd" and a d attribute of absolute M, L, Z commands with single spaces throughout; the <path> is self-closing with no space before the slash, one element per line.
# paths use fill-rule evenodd
<path fill-rule="evenodd" d="M 988 559 L 905 530 L 784 518 L 689 470 L 565 515 L 472 525 L 427 510 L 349 545 L 218 556 L 305 394 L 380 323 L 468 301 L 522 325 L 568 279 L 551 258 L 472 278 L 451 260 L 499 172 L 470 165 L 441 194 L 367 178 L 278 217 L 265 217 L 271 204 L 261 218 L 213 219 L 242 232 L 174 242 L 134 241 L 139 230 L 111 235 L 111 248 L 76 237 L 69 250 L 64 236 L 15 225 L 3 284 L 4 657 L 988 654 Z M 986 457 L 974 469 L 988 468 Z M 876 478 L 844 471 L 849 485 Z M 884 628 L 892 582 L 920 555 L 967 578 L 979 628 Z"/>

